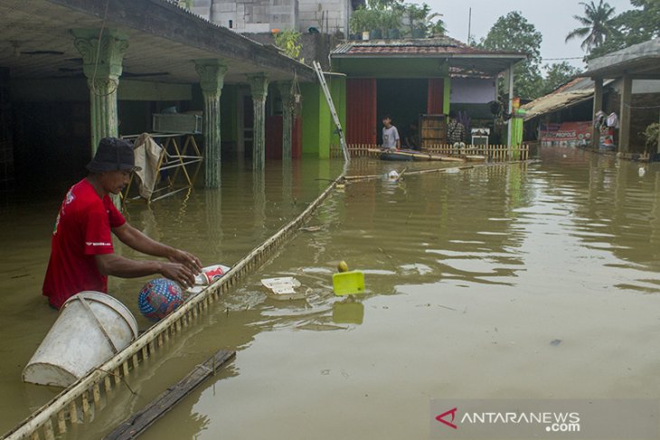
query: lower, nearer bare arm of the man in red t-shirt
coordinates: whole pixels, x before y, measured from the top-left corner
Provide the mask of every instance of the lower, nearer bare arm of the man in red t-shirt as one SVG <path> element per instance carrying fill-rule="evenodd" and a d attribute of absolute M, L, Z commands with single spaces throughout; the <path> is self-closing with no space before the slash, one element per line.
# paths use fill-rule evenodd
<path fill-rule="evenodd" d="M 161 274 L 181 286 L 194 286 L 193 271 L 181 263 L 136 261 L 119 257 L 116 254 L 97 254 L 94 257 L 102 275 L 137 278 L 139 276 Z"/>

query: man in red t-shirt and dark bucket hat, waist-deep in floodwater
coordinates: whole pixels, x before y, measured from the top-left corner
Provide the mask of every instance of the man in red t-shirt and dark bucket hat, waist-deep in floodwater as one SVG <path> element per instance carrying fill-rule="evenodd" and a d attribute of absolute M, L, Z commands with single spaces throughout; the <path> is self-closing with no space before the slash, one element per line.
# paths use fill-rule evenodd
<path fill-rule="evenodd" d="M 199 258 L 149 239 L 130 226 L 109 193 L 127 185 L 135 167 L 133 146 L 116 137 L 101 139 L 90 174 L 67 192 L 52 231 L 51 259 L 43 295 L 59 309 L 83 290 L 108 292 L 108 275 L 133 278 L 161 274 L 182 286 L 193 286 L 202 269 Z M 137 261 L 114 253 L 110 232 L 130 248 L 165 261 Z"/>

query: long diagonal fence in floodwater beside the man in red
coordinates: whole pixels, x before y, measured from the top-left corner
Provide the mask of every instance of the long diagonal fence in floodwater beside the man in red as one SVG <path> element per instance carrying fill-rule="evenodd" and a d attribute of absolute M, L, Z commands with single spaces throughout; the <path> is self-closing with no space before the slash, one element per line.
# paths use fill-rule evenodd
<path fill-rule="evenodd" d="M 220 295 L 236 286 L 240 278 L 257 270 L 273 251 L 296 233 L 297 229 L 311 217 L 321 202 L 335 189 L 336 184 L 343 179 L 344 173 L 330 183 L 325 191 L 310 203 L 295 220 L 290 221 L 258 248 L 254 248 L 248 255 L 241 258 L 220 280 L 186 300 L 172 314 L 154 324 L 112 359 L 92 370 L 67 389 L 62 390 L 58 396 L 33 412 L 20 425 L 3 435 L 0 440 L 24 438 L 54 440 L 56 435 L 66 433 L 71 424 L 90 421 L 95 411 L 105 407 L 109 391 L 116 388 L 124 377 L 136 371 L 141 362 L 147 360 L 166 342 L 175 338 L 186 327 L 198 320 L 200 315 L 207 312 L 212 303 L 220 298 Z M 56 430 L 58 434 L 56 434 Z"/>

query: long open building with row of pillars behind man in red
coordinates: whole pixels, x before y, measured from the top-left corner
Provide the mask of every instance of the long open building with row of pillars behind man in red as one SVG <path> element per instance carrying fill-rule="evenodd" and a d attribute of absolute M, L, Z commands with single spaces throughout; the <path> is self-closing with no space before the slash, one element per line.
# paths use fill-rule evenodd
<path fill-rule="evenodd" d="M 7 0 L 0 45 L 1 191 L 71 184 L 101 137 L 151 132 L 170 107 L 203 112 L 207 187 L 223 156 L 260 168 L 329 152 L 314 70 L 166 0 Z"/>

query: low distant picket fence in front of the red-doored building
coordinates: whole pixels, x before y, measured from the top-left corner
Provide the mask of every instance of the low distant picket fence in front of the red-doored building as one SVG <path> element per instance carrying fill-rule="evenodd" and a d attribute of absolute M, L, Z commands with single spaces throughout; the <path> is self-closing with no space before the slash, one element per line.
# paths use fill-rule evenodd
<path fill-rule="evenodd" d="M 378 157 L 380 145 L 349 144 L 348 152 L 351 157 Z M 430 145 L 423 148 L 421 153 L 446 155 L 449 157 L 465 157 L 467 155 L 483 155 L 488 162 L 526 161 L 530 158 L 530 145 Z M 330 145 L 330 157 L 342 157 L 339 145 Z"/>

